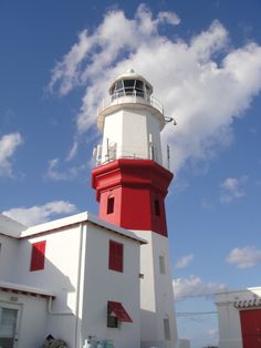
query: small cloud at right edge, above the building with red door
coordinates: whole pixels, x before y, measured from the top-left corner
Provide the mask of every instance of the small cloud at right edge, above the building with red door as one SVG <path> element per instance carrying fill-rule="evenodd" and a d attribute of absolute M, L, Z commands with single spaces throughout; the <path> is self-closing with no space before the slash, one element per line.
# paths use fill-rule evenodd
<path fill-rule="evenodd" d="M 254 246 L 234 248 L 227 257 L 227 262 L 239 268 L 250 268 L 261 263 L 261 249 Z"/>

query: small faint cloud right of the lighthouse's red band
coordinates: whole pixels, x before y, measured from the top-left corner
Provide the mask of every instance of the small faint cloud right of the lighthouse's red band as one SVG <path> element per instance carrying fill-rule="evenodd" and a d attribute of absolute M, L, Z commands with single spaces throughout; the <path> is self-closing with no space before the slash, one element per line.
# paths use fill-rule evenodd
<path fill-rule="evenodd" d="M 241 198 L 244 196 L 244 191 L 242 185 L 248 181 L 247 176 L 237 177 L 227 177 L 221 187 L 220 202 L 221 203 L 230 203 L 234 199 Z"/>

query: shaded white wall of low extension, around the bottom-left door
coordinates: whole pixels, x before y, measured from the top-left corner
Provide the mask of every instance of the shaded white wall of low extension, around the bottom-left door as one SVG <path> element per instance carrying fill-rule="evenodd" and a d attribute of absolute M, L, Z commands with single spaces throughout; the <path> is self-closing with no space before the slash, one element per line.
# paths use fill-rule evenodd
<path fill-rule="evenodd" d="M 0 307 L 19 309 L 15 348 L 41 347 L 45 338 L 46 299 L 0 290 Z"/>

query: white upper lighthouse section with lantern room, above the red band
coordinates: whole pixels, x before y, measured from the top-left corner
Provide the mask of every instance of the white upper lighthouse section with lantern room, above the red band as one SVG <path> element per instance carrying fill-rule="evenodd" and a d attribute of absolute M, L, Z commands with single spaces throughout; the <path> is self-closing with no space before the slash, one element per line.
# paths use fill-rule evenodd
<path fill-rule="evenodd" d="M 100 163 L 144 158 L 163 164 L 159 134 L 165 126 L 164 110 L 152 96 L 152 84 L 130 70 L 118 76 L 108 92 L 97 117 L 103 132 Z"/>

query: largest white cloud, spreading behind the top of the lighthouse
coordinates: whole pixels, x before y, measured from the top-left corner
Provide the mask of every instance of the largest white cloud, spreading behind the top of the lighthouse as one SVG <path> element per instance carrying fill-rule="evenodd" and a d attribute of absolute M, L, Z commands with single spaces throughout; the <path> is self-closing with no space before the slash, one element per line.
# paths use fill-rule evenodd
<path fill-rule="evenodd" d="M 129 68 L 149 79 L 165 113 L 164 143 L 174 149 L 173 170 L 185 163 L 211 158 L 232 141 L 232 123 L 242 116 L 261 90 L 261 47 L 250 42 L 229 48 L 229 33 L 213 23 L 189 42 L 159 33 L 164 23 L 178 24 L 174 12 L 152 12 L 139 6 L 133 19 L 123 11 L 105 14 L 93 33 L 84 30 L 53 70 L 51 89 L 66 94 L 84 86 L 77 130 L 95 124 L 96 110 L 109 82 Z M 121 30 L 118 30 L 121 28 Z M 174 27 L 175 28 L 175 27 Z"/>

